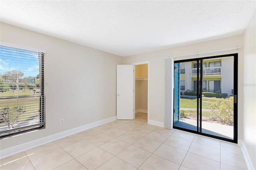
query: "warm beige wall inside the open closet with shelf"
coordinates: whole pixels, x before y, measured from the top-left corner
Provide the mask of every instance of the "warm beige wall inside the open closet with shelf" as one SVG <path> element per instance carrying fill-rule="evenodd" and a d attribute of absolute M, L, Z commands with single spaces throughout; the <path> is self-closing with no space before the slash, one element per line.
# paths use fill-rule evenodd
<path fill-rule="evenodd" d="M 135 66 L 135 77 L 148 78 L 148 64 Z M 135 81 L 135 110 L 148 110 L 148 81 Z"/>

